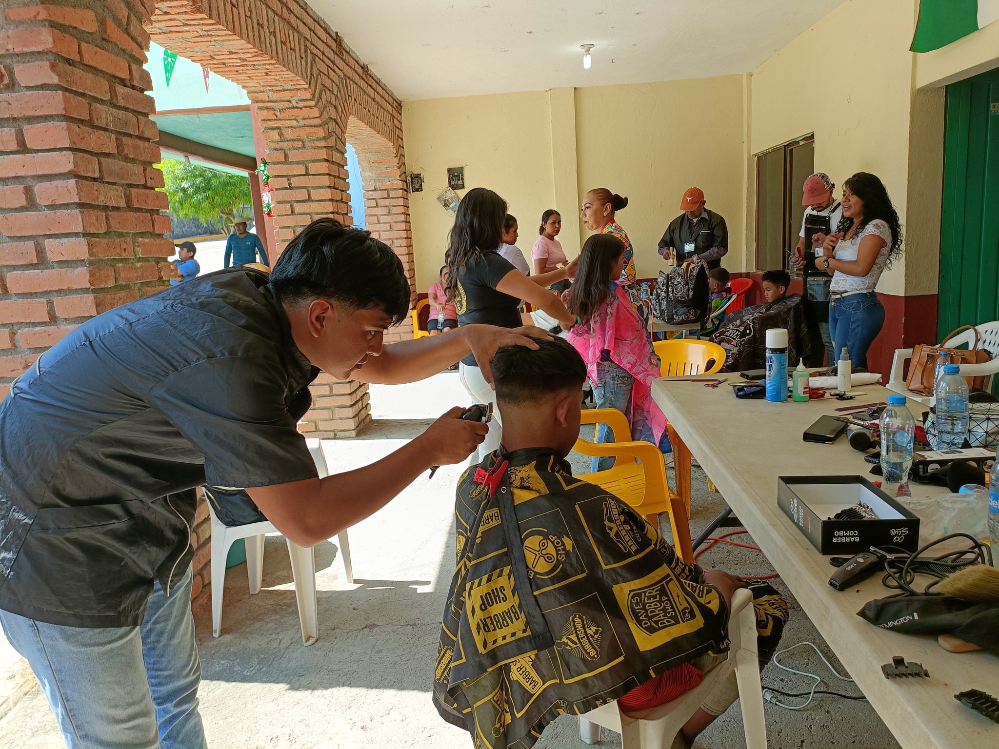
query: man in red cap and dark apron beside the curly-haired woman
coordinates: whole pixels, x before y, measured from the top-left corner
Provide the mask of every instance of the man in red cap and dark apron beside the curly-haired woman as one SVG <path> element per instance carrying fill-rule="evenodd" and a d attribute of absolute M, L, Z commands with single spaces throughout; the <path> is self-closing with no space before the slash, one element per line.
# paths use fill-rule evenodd
<path fill-rule="evenodd" d="M 803 271 L 805 314 L 809 327 L 813 331 L 817 330 L 822 339 L 829 367 L 834 361 L 832 337 L 829 335 L 829 282 L 832 277 L 815 267 L 816 254 L 822 253 L 822 247 L 817 242 L 812 242 L 812 238 L 836 231 L 842 210 L 839 201 L 832 197 L 835 187 L 829 176 L 822 172 L 816 172 L 805 180 L 801 197 L 801 205 L 806 206 L 805 215 L 801 221 L 798 244 L 791 258 L 791 262 Z"/>

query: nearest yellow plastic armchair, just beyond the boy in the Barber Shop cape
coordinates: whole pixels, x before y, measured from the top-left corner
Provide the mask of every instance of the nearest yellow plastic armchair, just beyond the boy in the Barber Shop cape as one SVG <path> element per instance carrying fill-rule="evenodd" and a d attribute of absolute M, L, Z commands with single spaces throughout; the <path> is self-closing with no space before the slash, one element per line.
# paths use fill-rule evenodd
<path fill-rule="evenodd" d="M 658 528 L 658 513 L 669 513 L 673 545 L 680 558 L 693 563 L 690 525 L 680 498 L 669 490 L 662 453 L 651 442 L 631 441 L 627 417 L 616 408 L 592 408 L 582 411 L 582 423 L 605 423 L 614 433 L 613 442 L 591 442 L 579 438 L 572 447 L 592 457 L 614 457 L 613 466 L 578 476 L 595 483 L 641 513 Z M 617 437 L 624 439 L 618 440 Z"/>

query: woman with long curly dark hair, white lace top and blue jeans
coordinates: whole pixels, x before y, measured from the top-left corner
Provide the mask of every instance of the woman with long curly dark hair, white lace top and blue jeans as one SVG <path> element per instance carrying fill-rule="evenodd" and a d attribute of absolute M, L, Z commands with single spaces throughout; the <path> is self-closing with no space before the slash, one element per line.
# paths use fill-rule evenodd
<path fill-rule="evenodd" d="M 845 347 L 858 367 L 884 325 L 875 288 L 881 273 L 902 253 L 902 227 L 884 185 L 858 172 L 843 183 L 843 218 L 836 230 L 818 235 L 823 256 L 815 265 L 832 276 L 829 334 L 836 359 Z"/>

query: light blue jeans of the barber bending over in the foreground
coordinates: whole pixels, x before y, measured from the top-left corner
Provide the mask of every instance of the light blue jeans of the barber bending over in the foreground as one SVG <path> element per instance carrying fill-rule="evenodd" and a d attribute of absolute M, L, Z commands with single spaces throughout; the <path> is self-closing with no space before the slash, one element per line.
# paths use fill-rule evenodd
<path fill-rule="evenodd" d="M 159 581 L 138 627 L 68 627 L 0 611 L 31 665 L 69 749 L 203 749 L 201 664 L 191 615 L 191 569 Z"/>

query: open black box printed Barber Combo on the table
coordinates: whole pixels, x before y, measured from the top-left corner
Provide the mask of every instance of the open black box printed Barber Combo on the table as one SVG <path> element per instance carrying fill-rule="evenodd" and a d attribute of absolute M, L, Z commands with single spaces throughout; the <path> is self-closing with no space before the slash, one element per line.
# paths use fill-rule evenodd
<path fill-rule="evenodd" d="M 830 519 L 858 500 L 877 518 Z M 778 476 L 777 504 L 821 554 L 919 548 L 919 518 L 863 476 Z"/>

